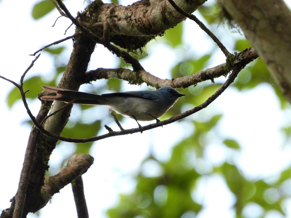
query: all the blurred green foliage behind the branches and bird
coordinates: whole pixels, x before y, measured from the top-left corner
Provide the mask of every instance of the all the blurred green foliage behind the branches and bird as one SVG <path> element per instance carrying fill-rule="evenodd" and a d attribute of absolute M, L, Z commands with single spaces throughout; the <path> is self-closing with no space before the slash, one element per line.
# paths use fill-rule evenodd
<path fill-rule="evenodd" d="M 112 0 L 111 2 L 118 3 L 118 0 Z M 46 0 L 41 1 L 33 7 L 32 16 L 34 19 L 39 19 L 49 13 L 53 8 L 54 6 L 51 2 Z M 217 12 L 217 5 L 201 6 L 199 12 L 209 24 L 215 25 L 217 18 L 214 15 Z M 163 36 L 163 40 L 173 49 L 181 48 L 183 47 L 182 33 L 183 24 L 181 23 L 167 30 Z M 156 43 L 159 43 L 159 41 L 161 40 L 158 40 Z M 230 51 L 242 51 L 250 46 L 247 40 L 239 39 L 236 40 Z M 47 48 L 45 51 L 53 57 L 58 57 L 63 53 L 64 48 Z M 174 67 L 171 70 L 171 77 L 176 78 L 191 75 L 206 69 L 209 67 L 209 60 L 211 60 L 214 53 L 215 51 L 212 51 L 212 53 L 201 54 L 195 58 L 189 58 L 189 56 L 184 59 L 180 58 L 176 63 L 173 63 Z M 142 59 L 145 57 L 143 54 L 135 55 L 137 58 Z M 119 67 L 130 67 L 122 59 L 120 60 Z M 30 90 L 26 93 L 26 97 L 36 98 L 38 92 L 42 91 L 41 85 L 44 83 L 52 86 L 57 85 L 58 81 L 56 81 L 56 78 L 59 78 L 64 69 L 65 64 L 59 65 L 55 63 L 55 72 L 52 72 L 55 76 L 51 81 L 45 81 L 41 76 L 34 76 L 25 80 L 24 89 Z M 260 59 L 247 65 L 232 86 L 237 90 L 250 90 L 261 83 L 268 83 L 274 88 L 282 109 L 290 107 L 264 62 Z M 214 85 L 210 82 L 203 82 L 199 83 L 196 87 L 192 86 L 185 90 L 179 90 L 187 95 L 187 101 L 178 101 L 162 119 L 179 114 L 183 106 L 193 108 L 199 105 L 212 95 L 219 88 L 219 85 L 221 84 L 216 83 Z M 106 93 L 109 90 L 119 92 L 121 88 L 122 83 L 120 80 L 109 79 L 99 81 L 97 87 L 87 87 L 86 91 L 100 94 Z M 8 106 L 11 108 L 18 99 L 20 99 L 19 91 L 14 88 L 7 97 Z M 101 118 L 98 118 L 97 121 L 94 120 L 94 122 L 85 123 L 82 120 L 81 111 L 90 109 L 91 107 L 82 105 L 76 108 L 76 113 L 70 117 L 70 119 L 72 118 L 76 121 L 73 125 L 67 126 L 62 135 L 76 138 L 92 137 L 100 131 L 103 120 L 112 120 L 112 118 L 109 118 L 109 115 L 102 115 L 102 121 Z M 207 121 L 190 119 L 179 121 L 180 125 L 187 124 L 189 126 L 188 136 L 173 147 L 169 160 L 161 162 L 153 156 L 145 158 L 140 166 L 139 173 L 134 176 L 136 189 L 131 194 L 120 194 L 119 204 L 109 209 L 107 215 L 111 218 L 195 217 L 203 207 L 203 201 L 197 200 L 199 199 L 197 197 L 197 190 L 203 189 L 199 181 L 201 178 L 210 178 L 215 174 L 223 178 L 229 192 L 235 196 L 235 202 L 231 209 L 235 210 L 236 217 L 245 217 L 243 211 L 250 204 L 260 206 L 263 209 L 263 215 L 271 210 L 275 210 L 283 216 L 283 202 L 291 196 L 290 166 L 285 171 L 278 172 L 278 180 L 272 183 L 267 183 L 263 179 L 253 181 L 247 179 L 235 165 L 235 155 L 233 154 L 242 152 L 240 144 L 235 139 L 223 138 L 218 133 L 217 124 L 222 116 L 220 114 L 209 115 Z M 121 119 L 119 115 L 118 119 Z M 282 128 L 282 131 L 286 135 L 286 140 L 290 141 L 291 127 L 285 126 Z M 210 133 L 212 134 L 211 137 L 209 137 Z M 232 155 L 223 160 L 219 165 L 212 164 L 205 157 L 205 149 L 211 143 L 219 145 L 227 153 Z M 88 153 L 91 146 L 92 143 L 77 144 L 75 153 Z M 159 176 L 150 177 L 144 175 L 142 170 L 143 165 L 148 161 L 154 161 L 157 167 L 162 169 Z M 206 162 L 207 164 L 205 164 Z"/>

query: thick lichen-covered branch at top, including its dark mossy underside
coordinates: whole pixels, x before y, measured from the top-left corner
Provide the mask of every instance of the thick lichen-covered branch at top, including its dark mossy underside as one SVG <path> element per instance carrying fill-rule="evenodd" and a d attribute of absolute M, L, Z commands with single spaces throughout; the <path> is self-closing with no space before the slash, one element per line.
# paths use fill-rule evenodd
<path fill-rule="evenodd" d="M 176 3 L 182 10 L 192 13 L 205 1 L 180 0 Z M 91 28 L 98 37 L 102 37 L 103 24 L 107 23 L 108 40 L 133 51 L 144 47 L 147 42 L 182 22 L 185 17 L 166 0 L 157 4 L 141 0 L 129 6 L 95 1 L 78 19 L 82 25 Z"/>

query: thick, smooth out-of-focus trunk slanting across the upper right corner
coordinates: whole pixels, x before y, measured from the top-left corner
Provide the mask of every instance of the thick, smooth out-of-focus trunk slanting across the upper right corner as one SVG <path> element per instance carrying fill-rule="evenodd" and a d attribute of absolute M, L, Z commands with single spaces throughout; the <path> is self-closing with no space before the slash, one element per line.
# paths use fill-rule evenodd
<path fill-rule="evenodd" d="M 291 103 L 291 13 L 282 0 L 219 0 Z"/>

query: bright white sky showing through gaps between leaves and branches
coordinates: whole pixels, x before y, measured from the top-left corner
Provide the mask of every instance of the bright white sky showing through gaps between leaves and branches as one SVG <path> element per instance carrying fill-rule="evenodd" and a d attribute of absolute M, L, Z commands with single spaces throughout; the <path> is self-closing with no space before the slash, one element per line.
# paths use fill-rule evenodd
<path fill-rule="evenodd" d="M 46 44 L 65 37 L 64 30 L 70 25 L 67 19 L 61 18 L 55 27 L 51 27 L 56 17 L 59 16 L 57 11 L 50 13 L 44 19 L 34 21 L 31 18 L 33 2 L 36 1 L 31 1 L 31 3 L 18 1 L 17 7 L 13 7 L 12 11 L 10 10 L 11 1 L 0 0 L 0 19 L 2 20 L 0 75 L 16 82 L 19 81 L 24 70 L 34 59 L 28 55 Z M 289 0 L 288 3 L 290 4 L 290 2 Z M 128 1 L 123 4 L 130 3 L 132 2 Z M 65 4 L 72 14 L 84 8 L 82 0 L 65 1 Z M 186 29 L 184 38 L 189 47 L 186 55 L 193 56 L 193 54 L 207 53 L 207 51 L 212 50 L 212 44 L 207 41 L 208 37 L 196 28 L 193 22 L 187 21 L 184 25 Z M 200 46 L 193 44 L 193 39 L 188 37 L 193 36 L 194 33 L 195 40 L 201 42 Z M 71 28 L 67 36 L 72 34 Z M 222 41 L 226 47 L 230 47 L 233 40 L 230 40 L 227 35 L 228 33 Z M 237 35 L 237 37 L 240 36 Z M 71 41 L 63 44 L 71 45 Z M 173 53 L 171 48 L 165 44 L 148 49 L 148 53 L 152 55 L 145 58 L 142 65 L 147 71 L 161 78 L 168 78 L 169 69 L 172 67 L 169 63 L 175 63 L 185 55 L 184 49 L 176 49 Z M 90 69 L 116 67 L 117 58 L 115 56 L 102 46 L 98 46 L 96 50 L 98 53 L 95 53 L 91 58 Z M 70 50 L 66 52 L 67 57 L 69 57 Z M 164 59 L 161 60 L 160 57 L 164 57 Z M 100 58 L 102 61 L 94 62 Z M 212 59 L 211 66 L 223 63 L 224 60 L 223 56 L 217 56 Z M 68 60 L 63 61 L 67 62 Z M 46 75 L 52 67 L 52 59 L 43 52 L 27 77 L 38 72 Z M 15 195 L 18 187 L 30 128 L 22 124 L 28 118 L 22 102 L 17 103 L 11 110 L 6 106 L 6 97 L 13 85 L 4 80 L 0 80 L 0 84 L 3 92 L 0 99 L 2 105 L 0 169 L 2 178 L 4 178 L 0 182 L 0 210 L 3 210 L 10 206 L 9 199 Z M 139 89 L 138 86 L 124 86 L 124 90 Z M 40 102 L 28 102 L 33 114 L 36 115 Z M 98 110 L 102 110 L 101 107 L 98 107 Z M 269 176 L 270 181 L 277 178 L 279 169 L 284 169 L 288 164 L 290 165 L 290 144 L 287 146 L 284 135 L 279 130 L 283 126 L 291 125 L 291 112 L 290 110 L 283 112 L 280 110 L 272 87 L 260 85 L 245 92 L 238 92 L 230 88 L 211 106 L 192 115 L 191 118 L 205 120 L 210 115 L 222 112 L 224 117 L 219 126 L 221 136 L 238 140 L 243 149 L 239 153 L 228 153 L 219 145 L 220 142 L 210 142 L 205 150 L 205 156 L 209 162 L 200 162 L 199 164 L 207 167 L 209 163 L 219 165 L 226 159 L 235 160 L 247 178 L 255 179 Z M 124 128 L 132 128 L 133 125 L 136 125 L 135 121 L 131 119 L 124 119 L 122 124 Z M 141 122 L 141 124 L 147 123 Z M 189 126 L 170 124 L 142 134 L 108 138 L 95 143 L 91 151 L 91 155 L 95 158 L 94 165 L 83 176 L 90 216 L 106 217 L 105 211 L 118 203 L 118 193 L 130 193 L 134 190 L 135 183 L 131 176 L 137 173 L 141 160 L 148 156 L 150 148 L 159 160 L 167 160 L 171 154 L 171 148 L 181 140 L 181 135 L 187 137 L 187 135 L 183 135 L 187 131 L 189 131 Z M 106 130 L 104 130 L 105 132 Z M 168 137 L 169 135 L 171 138 Z M 120 142 L 124 143 L 121 145 Z M 58 146 L 51 156 L 50 165 L 57 167 L 63 159 L 62 157 L 68 156 L 71 151 L 72 144 L 70 143 Z M 149 174 L 147 169 L 145 167 L 143 171 L 146 175 Z M 154 173 L 158 174 L 158 169 Z M 223 178 L 219 175 L 213 175 L 210 178 L 201 179 L 201 189 L 195 196 L 196 200 L 203 203 L 205 208 L 198 217 L 216 217 L 217 214 L 220 217 L 234 217 L 234 211 L 229 210 L 229 208 L 233 206 L 235 199 L 229 192 L 225 196 L 227 187 Z M 221 201 L 221 195 L 225 196 L 224 201 Z M 286 205 L 290 206 L 290 203 L 290 201 L 286 201 Z M 260 215 L 258 208 L 249 211 L 257 212 Z M 286 208 L 286 212 L 291 217 L 290 209 Z M 42 218 L 53 217 L 56 214 L 58 217 L 76 217 L 70 185 L 66 186 L 60 193 L 55 194 L 52 203 L 48 203 L 40 211 Z M 28 217 L 35 217 L 35 215 L 30 214 Z M 280 216 L 270 214 L 268 217 Z"/>

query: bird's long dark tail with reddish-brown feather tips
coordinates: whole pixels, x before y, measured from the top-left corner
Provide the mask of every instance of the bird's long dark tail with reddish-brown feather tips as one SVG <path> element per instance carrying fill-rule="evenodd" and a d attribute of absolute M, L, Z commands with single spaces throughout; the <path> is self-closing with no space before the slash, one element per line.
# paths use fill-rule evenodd
<path fill-rule="evenodd" d="M 104 103 L 104 97 L 97 94 L 90 94 L 85 92 L 78 92 L 69 89 L 63 89 L 48 85 L 43 85 L 42 88 L 49 92 L 54 92 L 56 95 L 46 95 L 40 97 L 40 99 L 45 101 L 63 101 L 69 103 L 74 100 L 74 104 L 93 104 L 102 105 Z M 102 101 L 103 100 L 103 101 Z"/>

